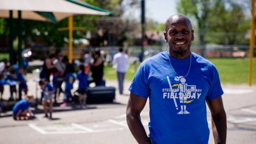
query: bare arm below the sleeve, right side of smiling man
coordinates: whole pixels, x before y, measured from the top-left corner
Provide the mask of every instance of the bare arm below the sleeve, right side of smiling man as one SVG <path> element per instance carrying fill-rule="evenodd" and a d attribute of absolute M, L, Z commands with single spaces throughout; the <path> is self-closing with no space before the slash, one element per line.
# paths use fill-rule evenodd
<path fill-rule="evenodd" d="M 208 100 L 207 103 L 211 110 L 212 119 L 215 124 L 215 126 L 212 124 L 214 140 L 216 142 L 219 139 L 220 142 L 218 143 L 225 144 L 227 137 L 227 117 L 223 107 L 222 98 L 218 97 L 213 100 Z"/>

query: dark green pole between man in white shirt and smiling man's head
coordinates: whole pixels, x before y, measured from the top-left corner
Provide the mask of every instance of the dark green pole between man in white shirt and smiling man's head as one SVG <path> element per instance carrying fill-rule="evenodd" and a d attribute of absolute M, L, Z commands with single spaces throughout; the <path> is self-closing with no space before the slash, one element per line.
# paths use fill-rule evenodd
<path fill-rule="evenodd" d="M 145 0 L 141 0 L 141 57 L 144 56 L 144 39 L 145 39 Z"/>

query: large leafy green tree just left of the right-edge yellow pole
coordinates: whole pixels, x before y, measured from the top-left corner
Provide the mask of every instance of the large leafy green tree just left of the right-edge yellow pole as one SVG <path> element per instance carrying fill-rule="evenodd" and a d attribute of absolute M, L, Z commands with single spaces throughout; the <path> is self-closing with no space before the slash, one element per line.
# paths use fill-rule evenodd
<path fill-rule="evenodd" d="M 209 33 L 217 36 L 213 36 L 213 39 L 210 35 L 206 39 L 219 44 L 244 44 L 244 34 L 249 28 L 250 22 L 243 6 L 232 1 L 218 0 L 209 14 Z"/>

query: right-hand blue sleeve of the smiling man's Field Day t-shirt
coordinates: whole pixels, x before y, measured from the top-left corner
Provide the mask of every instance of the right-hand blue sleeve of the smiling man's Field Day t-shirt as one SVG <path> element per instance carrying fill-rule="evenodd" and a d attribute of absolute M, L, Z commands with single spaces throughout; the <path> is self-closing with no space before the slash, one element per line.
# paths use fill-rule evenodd
<path fill-rule="evenodd" d="M 207 100 L 213 100 L 220 97 L 223 94 L 223 90 L 220 84 L 220 77 L 217 69 L 213 66 L 212 68 L 212 81 L 210 83 L 209 91 L 206 95 Z"/>

